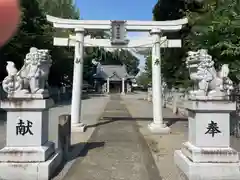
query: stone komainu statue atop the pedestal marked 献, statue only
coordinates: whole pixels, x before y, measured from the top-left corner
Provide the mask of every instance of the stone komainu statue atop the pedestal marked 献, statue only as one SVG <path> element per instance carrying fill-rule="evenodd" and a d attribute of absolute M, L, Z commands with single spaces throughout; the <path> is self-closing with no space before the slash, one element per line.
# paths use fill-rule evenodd
<path fill-rule="evenodd" d="M 47 80 L 52 65 L 49 50 L 30 48 L 24 65 L 19 71 L 12 61 L 7 63 L 8 76 L 3 80 L 2 86 L 8 95 L 17 95 L 23 98 L 33 94 L 49 96 Z"/>

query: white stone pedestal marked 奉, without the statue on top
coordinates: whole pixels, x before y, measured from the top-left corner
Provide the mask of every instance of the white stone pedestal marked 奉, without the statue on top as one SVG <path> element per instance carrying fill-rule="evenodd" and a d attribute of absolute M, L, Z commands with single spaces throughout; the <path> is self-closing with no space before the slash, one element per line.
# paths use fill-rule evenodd
<path fill-rule="evenodd" d="M 224 100 L 189 100 L 188 142 L 174 153 L 180 171 L 189 180 L 239 180 L 239 157 L 230 148 L 230 112 L 236 104 Z"/>

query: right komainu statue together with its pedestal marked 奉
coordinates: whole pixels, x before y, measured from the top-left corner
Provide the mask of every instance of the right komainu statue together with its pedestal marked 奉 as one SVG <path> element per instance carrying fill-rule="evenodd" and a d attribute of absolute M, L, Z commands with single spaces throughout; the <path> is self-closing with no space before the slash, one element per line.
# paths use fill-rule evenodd
<path fill-rule="evenodd" d="M 188 111 L 188 141 L 174 153 L 174 161 L 188 180 L 239 180 L 238 152 L 230 147 L 229 100 L 233 89 L 227 64 L 219 72 L 207 50 L 189 52 L 187 67 L 196 90 L 185 102 Z"/>

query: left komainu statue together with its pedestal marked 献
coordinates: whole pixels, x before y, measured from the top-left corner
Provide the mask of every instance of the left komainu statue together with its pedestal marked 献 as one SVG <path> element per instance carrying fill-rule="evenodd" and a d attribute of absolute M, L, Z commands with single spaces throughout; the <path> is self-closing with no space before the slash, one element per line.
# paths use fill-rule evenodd
<path fill-rule="evenodd" d="M 2 86 L 8 96 L 1 100 L 7 111 L 6 146 L 0 150 L 0 179 L 48 180 L 62 160 L 62 151 L 48 139 L 49 109 L 54 105 L 47 90 L 51 56 L 48 50 L 33 47 L 19 71 L 13 62 L 7 63 Z"/>

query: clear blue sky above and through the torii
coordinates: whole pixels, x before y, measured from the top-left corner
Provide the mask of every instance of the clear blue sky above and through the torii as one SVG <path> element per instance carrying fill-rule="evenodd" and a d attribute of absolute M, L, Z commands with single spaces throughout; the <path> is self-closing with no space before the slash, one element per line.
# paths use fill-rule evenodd
<path fill-rule="evenodd" d="M 80 16 L 86 20 L 152 20 L 157 0 L 75 0 Z M 129 33 L 141 37 L 142 33 Z M 140 57 L 140 67 L 144 59 Z"/>

